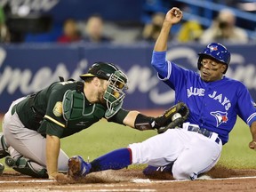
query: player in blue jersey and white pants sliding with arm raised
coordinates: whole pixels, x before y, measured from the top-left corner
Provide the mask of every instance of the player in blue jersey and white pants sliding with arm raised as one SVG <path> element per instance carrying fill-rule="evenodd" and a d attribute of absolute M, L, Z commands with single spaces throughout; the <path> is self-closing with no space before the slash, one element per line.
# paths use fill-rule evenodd
<path fill-rule="evenodd" d="M 182 12 L 176 7 L 166 13 L 154 47 L 152 66 L 156 68 L 159 79 L 175 90 L 175 101 L 188 106 L 187 121 L 143 142 L 109 152 L 91 163 L 85 163 L 81 156 L 73 156 L 68 160 L 69 175 L 76 178 L 90 172 L 121 169 L 130 164 L 173 164 L 174 179 L 196 180 L 199 174 L 208 172 L 217 164 L 222 145 L 228 142 L 228 133 L 236 123 L 236 116 L 251 128 L 249 147 L 256 148 L 254 102 L 244 84 L 225 76 L 230 61 L 225 46 L 208 44 L 198 54 L 199 74 L 165 60 L 169 32 L 181 18 Z"/>

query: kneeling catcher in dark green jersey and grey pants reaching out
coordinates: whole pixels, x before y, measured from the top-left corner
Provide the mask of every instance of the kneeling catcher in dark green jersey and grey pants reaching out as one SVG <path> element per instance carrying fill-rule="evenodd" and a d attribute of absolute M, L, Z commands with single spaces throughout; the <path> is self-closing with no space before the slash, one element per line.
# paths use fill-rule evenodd
<path fill-rule="evenodd" d="M 0 133 L 0 158 L 17 172 L 36 178 L 66 179 L 68 156 L 60 139 L 80 132 L 101 118 L 135 128 L 169 124 L 122 108 L 127 76 L 114 64 L 96 62 L 84 81 L 61 79 L 45 89 L 12 102 Z"/>

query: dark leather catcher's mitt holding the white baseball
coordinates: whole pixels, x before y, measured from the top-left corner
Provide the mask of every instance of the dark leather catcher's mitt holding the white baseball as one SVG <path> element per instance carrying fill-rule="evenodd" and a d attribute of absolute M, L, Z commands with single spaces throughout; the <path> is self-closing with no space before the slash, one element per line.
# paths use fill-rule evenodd
<path fill-rule="evenodd" d="M 163 133 L 168 129 L 173 129 L 177 126 L 181 126 L 187 120 L 188 114 L 188 106 L 183 102 L 177 103 L 176 105 L 172 106 L 172 108 L 164 111 L 164 114 L 156 117 L 155 127 L 157 129 L 157 132 Z M 176 116 L 177 118 L 174 118 Z"/>

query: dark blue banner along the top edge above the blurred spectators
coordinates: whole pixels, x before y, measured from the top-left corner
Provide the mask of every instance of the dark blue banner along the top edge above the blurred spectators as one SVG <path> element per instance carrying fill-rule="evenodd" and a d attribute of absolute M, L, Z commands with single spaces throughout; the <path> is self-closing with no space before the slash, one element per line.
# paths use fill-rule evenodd
<path fill-rule="evenodd" d="M 54 22 L 61 23 L 68 18 L 85 20 L 94 13 L 100 13 L 105 20 L 138 21 L 147 0 L 5 0 L 1 6 L 9 6 L 16 13 L 20 6 L 27 6 L 29 13 L 52 15 Z M 158 2 L 158 0 L 156 0 Z M 156 4 L 155 1 L 152 2 Z"/>

